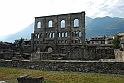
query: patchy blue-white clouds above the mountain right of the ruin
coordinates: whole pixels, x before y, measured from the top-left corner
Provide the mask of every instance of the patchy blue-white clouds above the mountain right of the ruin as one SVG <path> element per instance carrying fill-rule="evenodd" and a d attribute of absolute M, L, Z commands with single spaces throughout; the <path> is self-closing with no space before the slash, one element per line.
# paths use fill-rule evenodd
<path fill-rule="evenodd" d="M 100 0 L 101 3 L 94 4 L 91 7 L 93 11 L 97 12 L 97 14 L 92 14 L 94 17 L 104 17 L 104 16 L 112 16 L 112 17 L 123 17 L 122 13 L 124 13 L 124 2 L 123 0 Z M 97 11 L 96 11 L 97 10 Z"/>

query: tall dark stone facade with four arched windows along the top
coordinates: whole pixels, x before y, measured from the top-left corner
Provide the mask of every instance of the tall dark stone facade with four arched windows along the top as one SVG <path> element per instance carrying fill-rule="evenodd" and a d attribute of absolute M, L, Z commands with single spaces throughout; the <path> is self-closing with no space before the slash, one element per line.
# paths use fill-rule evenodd
<path fill-rule="evenodd" d="M 85 12 L 35 17 L 33 52 L 68 53 L 85 45 Z"/>

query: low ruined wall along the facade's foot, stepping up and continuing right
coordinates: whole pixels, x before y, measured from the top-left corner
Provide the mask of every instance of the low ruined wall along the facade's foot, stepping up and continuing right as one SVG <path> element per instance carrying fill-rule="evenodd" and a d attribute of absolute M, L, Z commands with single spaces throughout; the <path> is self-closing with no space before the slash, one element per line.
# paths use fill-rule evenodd
<path fill-rule="evenodd" d="M 114 49 L 81 49 L 74 48 L 66 54 L 52 54 L 49 52 L 36 52 L 31 55 L 31 60 L 82 60 L 94 61 L 100 59 L 115 59 Z"/>

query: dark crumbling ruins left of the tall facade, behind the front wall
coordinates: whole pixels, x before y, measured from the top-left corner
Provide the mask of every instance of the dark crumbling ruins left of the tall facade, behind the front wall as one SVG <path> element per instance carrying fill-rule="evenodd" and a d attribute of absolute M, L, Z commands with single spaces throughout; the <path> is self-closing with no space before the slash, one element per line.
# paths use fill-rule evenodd
<path fill-rule="evenodd" d="M 0 59 L 12 60 L 14 57 L 29 59 L 30 56 L 31 46 L 20 49 L 16 44 L 0 42 Z"/>

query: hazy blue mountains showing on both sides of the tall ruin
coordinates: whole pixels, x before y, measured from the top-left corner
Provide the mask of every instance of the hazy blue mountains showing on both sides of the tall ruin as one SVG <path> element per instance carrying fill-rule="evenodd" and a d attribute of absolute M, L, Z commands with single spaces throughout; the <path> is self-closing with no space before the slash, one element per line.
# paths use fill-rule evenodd
<path fill-rule="evenodd" d="M 88 39 L 90 36 L 98 36 L 98 35 L 114 35 L 118 32 L 124 32 L 124 22 L 113 26 L 111 28 L 107 28 L 112 24 L 120 22 L 124 19 L 118 17 L 102 17 L 102 18 L 90 18 L 85 17 L 85 27 L 86 27 L 86 38 Z M 16 39 L 20 38 L 31 38 L 31 33 L 34 32 L 34 23 L 30 24 L 28 27 L 24 28 L 23 30 L 11 34 L 5 37 L 0 38 L 0 41 L 7 41 L 7 42 L 14 42 Z"/>

